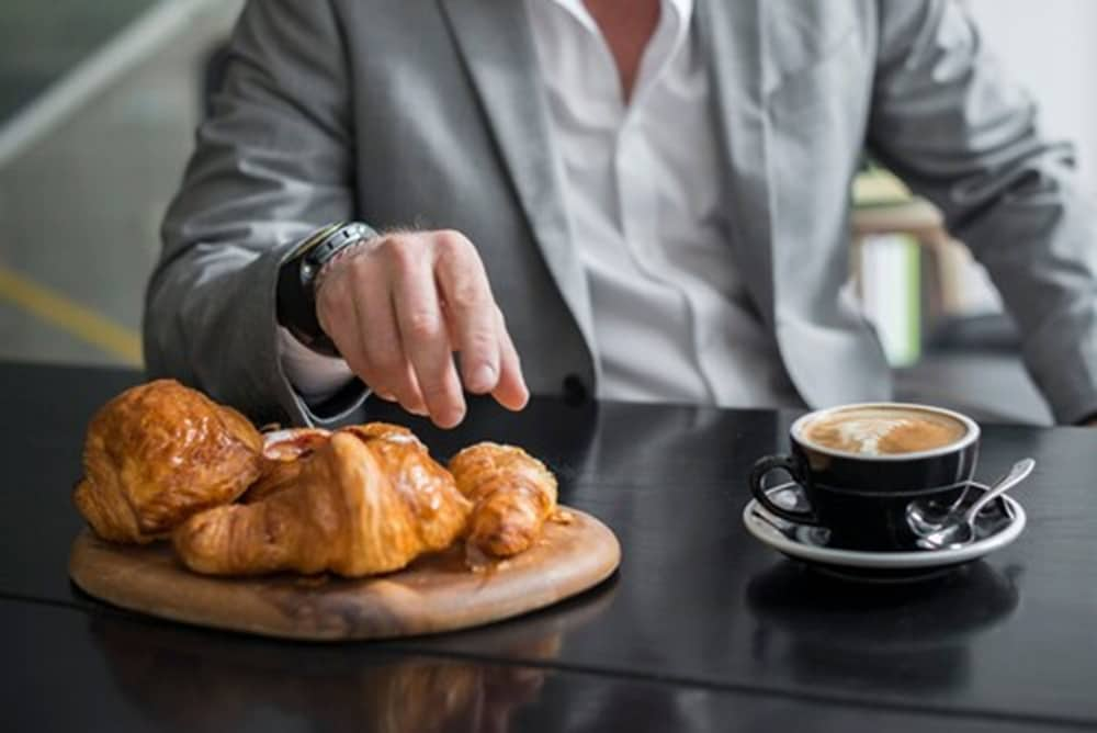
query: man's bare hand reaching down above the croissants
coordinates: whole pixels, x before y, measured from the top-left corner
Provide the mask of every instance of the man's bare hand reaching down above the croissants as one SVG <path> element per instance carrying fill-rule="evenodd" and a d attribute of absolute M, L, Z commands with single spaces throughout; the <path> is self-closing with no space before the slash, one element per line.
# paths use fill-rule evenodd
<path fill-rule="evenodd" d="M 452 428 L 465 416 L 461 377 L 509 409 L 529 399 L 518 352 L 476 248 L 456 232 L 383 235 L 324 268 L 316 315 L 378 396 Z"/>

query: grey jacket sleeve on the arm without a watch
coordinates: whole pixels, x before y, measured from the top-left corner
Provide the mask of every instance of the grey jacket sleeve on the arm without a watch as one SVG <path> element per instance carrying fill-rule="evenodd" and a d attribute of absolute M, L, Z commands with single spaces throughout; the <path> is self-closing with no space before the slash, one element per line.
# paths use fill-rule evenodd
<path fill-rule="evenodd" d="M 935 202 L 1017 322 L 1056 420 L 1097 413 L 1097 218 L 958 3 L 878 0 L 869 147 Z"/>

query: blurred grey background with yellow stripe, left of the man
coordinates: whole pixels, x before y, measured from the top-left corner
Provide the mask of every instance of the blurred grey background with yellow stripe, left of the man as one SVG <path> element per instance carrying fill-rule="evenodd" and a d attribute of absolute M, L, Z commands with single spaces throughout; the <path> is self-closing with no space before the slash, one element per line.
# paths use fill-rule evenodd
<path fill-rule="evenodd" d="M 241 4 L 0 3 L 0 358 L 140 365 L 160 217 Z"/>

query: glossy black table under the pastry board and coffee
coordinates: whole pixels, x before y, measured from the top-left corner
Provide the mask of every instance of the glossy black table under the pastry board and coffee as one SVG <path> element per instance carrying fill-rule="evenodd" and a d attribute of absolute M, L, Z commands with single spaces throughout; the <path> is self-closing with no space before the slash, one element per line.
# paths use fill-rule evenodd
<path fill-rule="evenodd" d="M 1013 545 L 931 582 L 862 586 L 754 540 L 744 476 L 794 414 L 476 403 L 438 456 L 512 441 L 621 540 L 621 571 L 468 631 L 337 645 L 190 628 L 66 576 L 91 413 L 133 372 L 0 365 L 4 730 L 840 730 L 1097 726 L 1097 432 L 984 426 L 980 475 L 1038 469 Z M 378 408 L 378 417 L 395 417 Z M 9 725 L 4 717 L 11 720 Z"/>

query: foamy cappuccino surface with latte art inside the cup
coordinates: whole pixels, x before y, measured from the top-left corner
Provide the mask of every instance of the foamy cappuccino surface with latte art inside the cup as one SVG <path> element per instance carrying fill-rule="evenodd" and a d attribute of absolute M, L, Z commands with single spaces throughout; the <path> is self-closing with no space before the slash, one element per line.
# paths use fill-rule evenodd
<path fill-rule="evenodd" d="M 800 435 L 823 449 L 858 455 L 894 455 L 943 448 L 968 433 L 960 420 L 907 407 L 853 407 L 821 415 Z"/>

